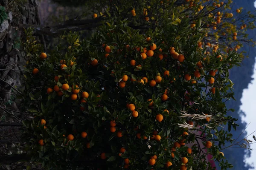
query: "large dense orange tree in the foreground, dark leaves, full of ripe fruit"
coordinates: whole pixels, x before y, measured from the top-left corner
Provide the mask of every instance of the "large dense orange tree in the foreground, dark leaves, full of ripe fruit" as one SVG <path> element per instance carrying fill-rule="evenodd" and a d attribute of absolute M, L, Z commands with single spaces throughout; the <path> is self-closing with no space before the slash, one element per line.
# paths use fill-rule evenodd
<path fill-rule="evenodd" d="M 31 114 L 23 121 L 31 162 L 47 169 L 211 170 L 211 154 L 222 169 L 232 167 L 219 151 L 232 134 L 218 127 L 237 126 L 223 99 L 233 98 L 228 70 L 241 57 L 199 48 L 201 20 L 193 28 L 188 17 L 170 20 L 146 34 L 127 20 L 103 24 L 90 40 L 64 34 L 68 45 L 49 54 L 25 30 L 21 109 Z"/>

